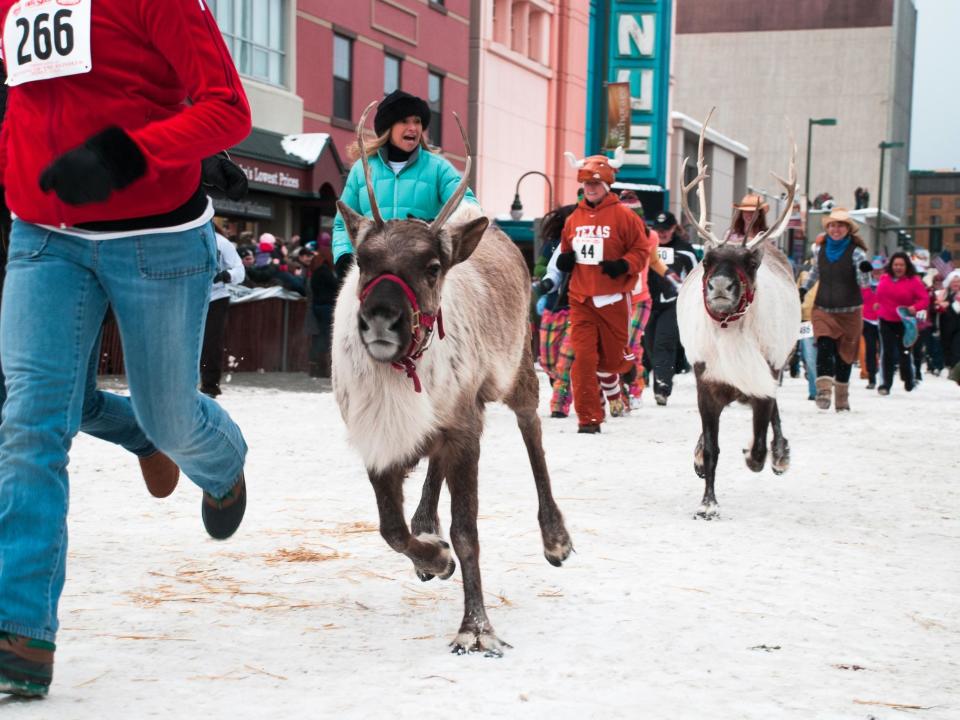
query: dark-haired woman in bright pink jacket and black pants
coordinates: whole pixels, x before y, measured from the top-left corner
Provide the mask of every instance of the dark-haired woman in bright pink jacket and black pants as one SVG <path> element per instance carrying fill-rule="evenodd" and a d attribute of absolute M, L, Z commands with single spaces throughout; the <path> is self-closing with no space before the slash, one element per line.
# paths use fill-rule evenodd
<path fill-rule="evenodd" d="M 904 252 L 890 256 L 884 275 L 877 285 L 876 309 L 880 319 L 881 366 L 883 384 L 877 388 L 881 395 L 889 395 L 893 385 L 893 366 L 899 364 L 900 378 L 907 392 L 913 390 L 913 363 L 910 347 L 904 346 L 904 321 L 900 308 L 911 317 L 925 311 L 930 303 L 927 289 L 917 275 L 913 263 Z M 913 343 L 910 343 L 912 345 Z"/>

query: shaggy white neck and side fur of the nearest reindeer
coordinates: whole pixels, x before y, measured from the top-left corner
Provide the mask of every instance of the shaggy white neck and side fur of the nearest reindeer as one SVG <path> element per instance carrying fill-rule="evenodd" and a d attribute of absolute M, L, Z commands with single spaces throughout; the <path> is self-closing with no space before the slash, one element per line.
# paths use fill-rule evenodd
<path fill-rule="evenodd" d="M 476 402 L 481 385 L 502 397 L 512 386 L 522 344 L 508 349 L 490 322 L 491 289 L 471 264 L 453 268 L 443 287 L 446 337 L 434 336 L 417 361 L 422 392 L 404 372 L 374 361 L 357 327 L 359 272 L 350 271 L 337 300 L 333 332 L 333 387 L 350 443 L 370 470 L 382 471 L 422 454 L 424 443 L 455 421 L 459 403 Z M 522 303 L 519 303 L 522 305 Z M 501 321 L 523 332 L 526 308 Z"/>

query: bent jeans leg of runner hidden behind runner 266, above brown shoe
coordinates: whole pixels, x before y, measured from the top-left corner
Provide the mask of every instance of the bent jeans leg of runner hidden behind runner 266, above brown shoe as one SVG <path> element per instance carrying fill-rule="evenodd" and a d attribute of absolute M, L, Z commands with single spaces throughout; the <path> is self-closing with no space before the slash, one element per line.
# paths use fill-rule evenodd
<path fill-rule="evenodd" d="M 100 338 L 94 343 L 87 363 L 83 392 L 83 414 L 80 432 L 93 435 L 114 445 L 120 445 L 137 457 L 146 457 L 157 451 L 137 424 L 130 398 L 97 389 L 97 369 L 100 365 Z M 0 406 L 7 399 L 7 389 L 0 365 Z"/>

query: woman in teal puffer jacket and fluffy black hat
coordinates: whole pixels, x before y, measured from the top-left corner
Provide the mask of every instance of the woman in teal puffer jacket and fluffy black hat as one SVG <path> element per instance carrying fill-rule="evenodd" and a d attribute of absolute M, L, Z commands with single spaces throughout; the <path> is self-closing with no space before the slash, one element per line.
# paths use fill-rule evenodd
<path fill-rule="evenodd" d="M 394 90 L 377 107 L 373 119 L 377 139 L 367 145 L 367 152 L 371 182 L 384 220 L 432 220 L 457 189 L 460 174 L 446 158 L 427 147 L 424 132 L 429 126 L 427 103 L 403 90 Z M 356 145 L 351 150 L 359 152 Z M 370 216 L 362 165 L 354 163 L 340 200 Z M 464 202 L 479 205 L 469 189 Z M 353 245 L 340 213 L 333 221 L 333 260 L 338 277 L 353 264 Z"/>

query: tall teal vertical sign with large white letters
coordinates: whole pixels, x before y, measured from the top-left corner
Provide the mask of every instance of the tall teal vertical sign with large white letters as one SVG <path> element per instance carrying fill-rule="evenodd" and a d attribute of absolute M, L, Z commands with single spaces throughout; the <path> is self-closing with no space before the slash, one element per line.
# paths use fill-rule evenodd
<path fill-rule="evenodd" d="M 618 173 L 624 182 L 666 185 L 671 6 L 669 0 L 612 0 L 604 18 L 602 79 L 630 88 L 630 147 Z"/>

